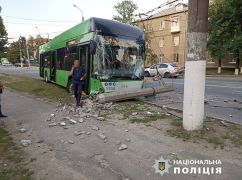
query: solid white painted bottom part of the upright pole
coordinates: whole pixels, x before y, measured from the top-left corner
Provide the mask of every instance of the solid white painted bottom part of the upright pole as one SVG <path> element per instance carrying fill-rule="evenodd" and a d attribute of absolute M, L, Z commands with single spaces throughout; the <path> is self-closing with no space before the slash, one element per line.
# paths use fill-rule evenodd
<path fill-rule="evenodd" d="M 183 127 L 198 130 L 203 126 L 206 61 L 186 61 L 183 101 Z"/>

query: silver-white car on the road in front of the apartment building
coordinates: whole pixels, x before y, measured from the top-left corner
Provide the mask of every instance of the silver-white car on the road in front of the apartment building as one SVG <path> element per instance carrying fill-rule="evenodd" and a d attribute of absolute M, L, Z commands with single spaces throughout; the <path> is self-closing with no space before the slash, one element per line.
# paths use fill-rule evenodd
<path fill-rule="evenodd" d="M 177 78 L 179 75 L 183 74 L 184 69 L 178 67 L 176 64 L 162 63 L 154 64 L 149 68 L 145 69 L 145 76 L 157 76 L 158 73 L 164 78 Z"/>

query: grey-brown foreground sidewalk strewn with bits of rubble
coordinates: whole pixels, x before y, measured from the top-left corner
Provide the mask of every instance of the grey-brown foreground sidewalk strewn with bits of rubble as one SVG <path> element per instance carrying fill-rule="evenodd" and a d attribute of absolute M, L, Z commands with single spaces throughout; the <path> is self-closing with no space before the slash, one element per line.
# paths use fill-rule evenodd
<path fill-rule="evenodd" d="M 203 141 L 184 142 L 167 135 L 169 123 L 166 118 L 144 124 L 131 123 L 125 114 L 120 115 L 124 111 L 132 116 L 158 111 L 154 107 L 146 106 L 143 112 L 137 112 L 142 104 L 130 102 L 125 106 L 109 105 L 97 112 L 87 101 L 87 108 L 77 115 L 70 107 L 66 106 L 64 110 L 62 106 L 56 107 L 53 103 L 10 90 L 6 91 L 2 102 L 4 112 L 9 116 L 4 122 L 15 140 L 32 141 L 24 150 L 27 158 L 36 159 L 29 166 L 37 179 L 238 180 L 242 177 L 241 148 L 214 149 Z M 52 113 L 53 119 L 46 121 Z M 66 125 L 60 126 L 58 123 L 65 116 L 76 122 L 67 120 Z M 80 119 L 83 122 L 79 122 Z M 26 133 L 19 132 L 22 127 L 27 129 Z M 127 149 L 119 150 L 121 144 L 127 145 Z M 175 175 L 173 167 L 163 177 L 155 174 L 152 167 L 155 160 L 174 154 L 179 159 L 221 160 L 222 175 Z"/>

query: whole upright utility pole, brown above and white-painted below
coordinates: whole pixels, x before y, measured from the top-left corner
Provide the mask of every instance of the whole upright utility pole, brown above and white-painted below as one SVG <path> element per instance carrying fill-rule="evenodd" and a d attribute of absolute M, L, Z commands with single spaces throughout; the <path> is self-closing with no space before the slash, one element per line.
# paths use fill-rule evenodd
<path fill-rule="evenodd" d="M 203 127 L 209 0 L 189 0 L 183 100 L 183 127 Z"/>

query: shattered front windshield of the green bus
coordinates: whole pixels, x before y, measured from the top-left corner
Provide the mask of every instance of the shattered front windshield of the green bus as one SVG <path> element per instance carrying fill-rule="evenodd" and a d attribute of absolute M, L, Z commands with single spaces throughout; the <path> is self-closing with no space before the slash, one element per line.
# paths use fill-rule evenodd
<path fill-rule="evenodd" d="M 98 36 L 93 75 L 98 79 L 141 79 L 143 42 Z"/>

